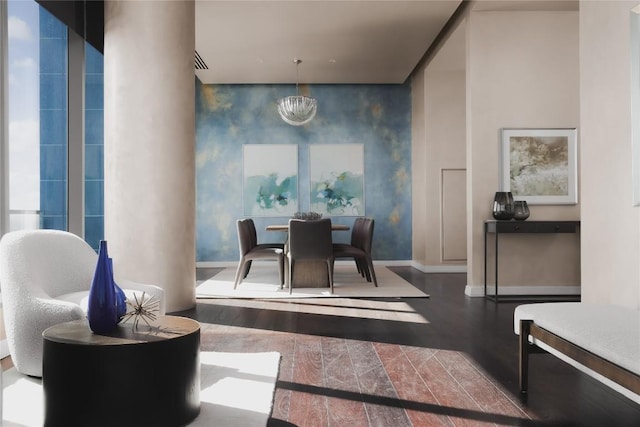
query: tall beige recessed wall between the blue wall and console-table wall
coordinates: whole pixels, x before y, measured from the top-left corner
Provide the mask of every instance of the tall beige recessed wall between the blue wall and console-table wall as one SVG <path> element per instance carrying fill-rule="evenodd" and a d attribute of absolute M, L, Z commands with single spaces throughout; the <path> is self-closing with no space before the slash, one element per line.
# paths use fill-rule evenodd
<path fill-rule="evenodd" d="M 465 25 L 412 75 L 413 260 L 429 269 L 465 266 L 442 258 L 440 171 L 465 165 Z M 464 239 L 463 239 L 464 240 Z M 465 242 L 458 242 L 458 244 Z"/>

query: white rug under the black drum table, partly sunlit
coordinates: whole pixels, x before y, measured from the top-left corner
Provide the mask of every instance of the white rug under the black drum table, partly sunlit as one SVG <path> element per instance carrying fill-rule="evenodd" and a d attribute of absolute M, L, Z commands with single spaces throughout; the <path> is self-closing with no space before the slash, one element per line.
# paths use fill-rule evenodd
<path fill-rule="evenodd" d="M 189 426 L 265 426 L 271 415 L 280 354 L 200 353 L 200 415 Z M 3 427 L 40 427 L 42 381 L 3 373 Z"/>

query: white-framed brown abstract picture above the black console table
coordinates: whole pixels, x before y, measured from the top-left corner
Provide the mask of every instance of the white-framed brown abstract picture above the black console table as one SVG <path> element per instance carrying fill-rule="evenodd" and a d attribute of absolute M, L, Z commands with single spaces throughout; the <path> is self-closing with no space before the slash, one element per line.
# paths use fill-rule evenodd
<path fill-rule="evenodd" d="M 530 205 L 578 203 L 576 128 L 501 131 L 501 186 Z"/>

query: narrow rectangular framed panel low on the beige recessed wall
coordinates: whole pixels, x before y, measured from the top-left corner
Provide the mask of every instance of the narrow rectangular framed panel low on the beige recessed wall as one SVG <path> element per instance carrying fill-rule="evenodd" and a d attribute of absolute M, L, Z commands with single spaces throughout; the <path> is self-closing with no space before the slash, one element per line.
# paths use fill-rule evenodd
<path fill-rule="evenodd" d="M 467 260 L 467 172 L 442 170 L 442 260 Z"/>

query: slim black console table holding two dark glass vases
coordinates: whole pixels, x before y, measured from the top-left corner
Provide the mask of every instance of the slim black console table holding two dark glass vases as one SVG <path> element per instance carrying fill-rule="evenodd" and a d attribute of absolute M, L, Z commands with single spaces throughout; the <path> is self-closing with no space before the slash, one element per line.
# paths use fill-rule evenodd
<path fill-rule="evenodd" d="M 514 233 L 577 233 L 580 221 L 516 221 L 486 220 L 484 222 L 484 296 L 498 302 L 498 237 Z M 495 234 L 495 295 L 487 294 L 487 235 Z M 522 297 L 519 295 L 519 297 Z"/>

